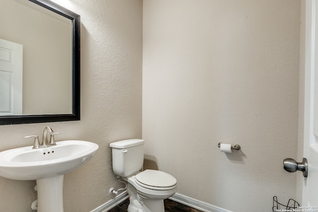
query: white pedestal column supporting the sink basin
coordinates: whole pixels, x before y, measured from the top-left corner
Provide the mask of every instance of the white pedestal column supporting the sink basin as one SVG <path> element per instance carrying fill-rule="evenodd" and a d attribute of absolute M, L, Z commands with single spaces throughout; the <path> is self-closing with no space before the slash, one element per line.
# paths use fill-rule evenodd
<path fill-rule="evenodd" d="M 64 175 L 36 180 L 38 212 L 63 212 Z"/>

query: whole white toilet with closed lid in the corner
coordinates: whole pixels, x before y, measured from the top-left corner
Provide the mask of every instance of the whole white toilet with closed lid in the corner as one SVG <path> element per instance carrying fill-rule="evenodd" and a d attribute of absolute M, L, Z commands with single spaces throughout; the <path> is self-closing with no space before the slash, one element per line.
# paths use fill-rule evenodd
<path fill-rule="evenodd" d="M 129 139 L 110 143 L 113 171 L 127 182 L 128 212 L 164 212 L 163 200 L 177 190 L 176 179 L 162 171 L 141 171 L 144 140 Z"/>

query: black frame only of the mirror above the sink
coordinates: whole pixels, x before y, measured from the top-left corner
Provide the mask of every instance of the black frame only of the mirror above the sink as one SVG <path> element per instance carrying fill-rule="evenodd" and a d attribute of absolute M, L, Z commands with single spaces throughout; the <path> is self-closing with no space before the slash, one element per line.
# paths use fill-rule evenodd
<path fill-rule="evenodd" d="M 29 0 L 72 20 L 72 114 L 1 116 L 0 125 L 80 120 L 80 16 L 50 0 Z"/>

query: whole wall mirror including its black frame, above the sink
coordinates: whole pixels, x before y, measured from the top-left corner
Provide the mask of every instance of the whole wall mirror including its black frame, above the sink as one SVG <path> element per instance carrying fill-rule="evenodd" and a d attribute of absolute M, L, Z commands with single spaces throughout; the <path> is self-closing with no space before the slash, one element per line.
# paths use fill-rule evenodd
<path fill-rule="evenodd" d="M 0 125 L 80 120 L 80 16 L 50 0 L 1 0 L 0 29 Z M 21 77 L 5 70 L 19 61 L 10 43 Z"/>

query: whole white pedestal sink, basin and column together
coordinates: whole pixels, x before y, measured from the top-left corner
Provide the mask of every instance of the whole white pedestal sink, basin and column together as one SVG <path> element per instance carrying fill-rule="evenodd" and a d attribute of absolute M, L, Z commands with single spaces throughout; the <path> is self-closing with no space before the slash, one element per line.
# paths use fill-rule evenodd
<path fill-rule="evenodd" d="M 64 174 L 86 163 L 98 149 L 96 143 L 88 141 L 58 141 L 56 144 L 0 152 L 1 177 L 36 180 L 38 212 L 63 212 Z"/>

